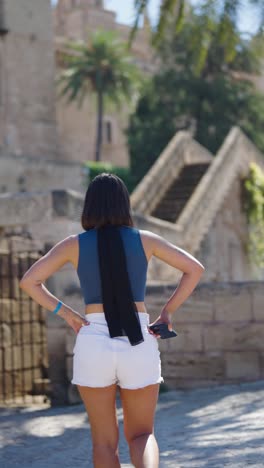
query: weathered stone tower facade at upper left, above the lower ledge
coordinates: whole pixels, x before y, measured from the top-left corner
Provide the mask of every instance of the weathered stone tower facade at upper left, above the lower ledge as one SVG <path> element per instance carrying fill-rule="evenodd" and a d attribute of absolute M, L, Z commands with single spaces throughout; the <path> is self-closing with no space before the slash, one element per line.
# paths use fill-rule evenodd
<path fill-rule="evenodd" d="M 58 157 L 50 0 L 4 0 L 0 152 Z"/>

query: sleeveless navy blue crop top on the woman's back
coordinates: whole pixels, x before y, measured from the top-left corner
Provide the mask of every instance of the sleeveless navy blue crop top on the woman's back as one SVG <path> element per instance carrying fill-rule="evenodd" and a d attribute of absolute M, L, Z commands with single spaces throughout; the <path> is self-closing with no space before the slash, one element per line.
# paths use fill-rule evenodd
<path fill-rule="evenodd" d="M 127 261 L 134 302 L 145 298 L 148 261 L 138 229 L 119 226 Z M 102 291 L 97 253 L 97 229 L 78 234 L 79 259 L 77 274 L 85 304 L 102 304 Z"/>

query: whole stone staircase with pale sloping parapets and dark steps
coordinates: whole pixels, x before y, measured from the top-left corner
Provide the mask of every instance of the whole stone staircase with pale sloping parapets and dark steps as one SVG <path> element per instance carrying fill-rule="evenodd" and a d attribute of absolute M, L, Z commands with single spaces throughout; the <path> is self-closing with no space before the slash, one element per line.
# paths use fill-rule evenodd
<path fill-rule="evenodd" d="M 195 255 L 233 182 L 248 174 L 253 161 L 264 170 L 263 155 L 239 127 L 214 157 L 178 132 L 130 197 L 138 227 Z"/>

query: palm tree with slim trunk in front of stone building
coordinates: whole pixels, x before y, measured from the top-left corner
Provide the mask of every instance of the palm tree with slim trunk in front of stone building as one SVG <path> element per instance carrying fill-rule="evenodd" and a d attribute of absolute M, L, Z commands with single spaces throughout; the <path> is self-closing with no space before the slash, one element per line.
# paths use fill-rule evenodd
<path fill-rule="evenodd" d="M 102 123 L 105 101 L 119 105 L 133 97 L 137 68 L 126 44 L 113 31 L 96 31 L 88 43 L 70 42 L 60 53 L 64 70 L 58 78 L 59 95 L 82 105 L 85 97 L 97 98 L 95 160 L 101 160 Z"/>

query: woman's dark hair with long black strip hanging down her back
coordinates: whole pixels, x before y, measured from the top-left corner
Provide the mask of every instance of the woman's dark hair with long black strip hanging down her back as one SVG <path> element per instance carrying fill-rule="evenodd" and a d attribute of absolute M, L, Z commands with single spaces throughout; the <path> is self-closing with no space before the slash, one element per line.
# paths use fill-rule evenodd
<path fill-rule="evenodd" d="M 144 341 L 134 302 L 120 226 L 133 227 L 126 185 L 102 173 L 89 184 L 81 217 L 84 230 L 97 229 L 102 300 L 110 336 L 128 336 L 131 345 Z"/>

